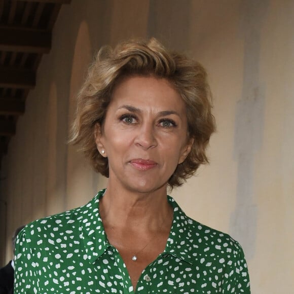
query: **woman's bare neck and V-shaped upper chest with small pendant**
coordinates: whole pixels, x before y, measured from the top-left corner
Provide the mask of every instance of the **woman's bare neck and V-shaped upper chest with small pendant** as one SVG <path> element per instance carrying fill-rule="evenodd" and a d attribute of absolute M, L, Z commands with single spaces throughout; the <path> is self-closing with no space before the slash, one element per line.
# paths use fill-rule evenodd
<path fill-rule="evenodd" d="M 166 247 L 173 209 L 167 201 L 166 188 L 132 193 L 113 187 L 108 185 L 100 198 L 100 215 L 107 239 L 119 251 L 136 289 L 142 271 Z"/>

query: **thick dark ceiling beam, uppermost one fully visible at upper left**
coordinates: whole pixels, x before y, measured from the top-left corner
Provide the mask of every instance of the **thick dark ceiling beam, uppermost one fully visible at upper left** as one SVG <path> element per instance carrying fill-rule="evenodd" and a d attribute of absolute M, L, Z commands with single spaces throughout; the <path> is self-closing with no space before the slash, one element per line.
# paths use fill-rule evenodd
<path fill-rule="evenodd" d="M 38 29 L 0 27 L 0 50 L 12 52 L 49 53 L 51 32 Z"/>

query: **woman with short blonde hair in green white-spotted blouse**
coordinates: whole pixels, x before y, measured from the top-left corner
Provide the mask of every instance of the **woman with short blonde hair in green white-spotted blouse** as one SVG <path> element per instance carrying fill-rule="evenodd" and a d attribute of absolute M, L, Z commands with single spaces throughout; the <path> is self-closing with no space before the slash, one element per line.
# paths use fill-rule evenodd
<path fill-rule="evenodd" d="M 213 131 L 199 63 L 155 39 L 101 49 L 71 142 L 108 177 L 107 189 L 26 226 L 16 293 L 249 293 L 240 245 L 167 196 L 208 162 Z"/>

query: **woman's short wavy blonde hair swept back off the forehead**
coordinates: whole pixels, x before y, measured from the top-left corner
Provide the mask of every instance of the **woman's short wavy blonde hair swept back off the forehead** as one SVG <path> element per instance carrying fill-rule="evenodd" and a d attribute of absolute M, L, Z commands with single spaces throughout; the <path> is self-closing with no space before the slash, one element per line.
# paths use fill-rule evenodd
<path fill-rule="evenodd" d="M 181 186 L 201 164 L 208 163 L 206 148 L 215 130 L 211 93 L 201 64 L 186 55 L 166 50 L 154 38 L 148 42 L 123 42 L 115 49 L 107 46 L 100 49 L 78 95 L 69 142 L 80 143 L 94 170 L 109 176 L 108 160 L 96 148 L 95 124 L 103 125 L 119 81 L 134 75 L 168 80 L 187 105 L 188 138 L 194 138 L 194 143 L 186 160 L 178 164 L 168 181 L 171 189 Z"/>

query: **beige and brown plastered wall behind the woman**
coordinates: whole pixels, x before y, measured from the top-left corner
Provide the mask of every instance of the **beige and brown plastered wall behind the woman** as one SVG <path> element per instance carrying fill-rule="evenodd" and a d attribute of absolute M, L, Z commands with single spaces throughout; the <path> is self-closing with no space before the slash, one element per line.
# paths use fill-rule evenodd
<path fill-rule="evenodd" d="M 155 36 L 207 68 L 217 122 L 210 166 L 171 194 L 188 215 L 242 244 L 252 293 L 292 293 L 293 27 L 291 0 L 72 0 L 63 6 L 3 162 L 1 198 L 8 207 L 1 265 L 12 257 L 16 227 L 82 205 L 105 187 L 106 179 L 65 144 L 75 95 L 100 46 Z"/>

